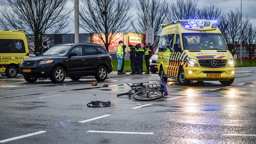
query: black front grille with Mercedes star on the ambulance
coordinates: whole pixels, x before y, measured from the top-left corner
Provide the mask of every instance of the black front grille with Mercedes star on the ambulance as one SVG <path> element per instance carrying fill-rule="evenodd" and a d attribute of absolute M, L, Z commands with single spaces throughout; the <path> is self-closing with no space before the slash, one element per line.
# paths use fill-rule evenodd
<path fill-rule="evenodd" d="M 198 60 L 201 67 L 222 68 L 227 64 L 227 60 Z"/>

